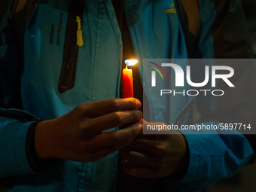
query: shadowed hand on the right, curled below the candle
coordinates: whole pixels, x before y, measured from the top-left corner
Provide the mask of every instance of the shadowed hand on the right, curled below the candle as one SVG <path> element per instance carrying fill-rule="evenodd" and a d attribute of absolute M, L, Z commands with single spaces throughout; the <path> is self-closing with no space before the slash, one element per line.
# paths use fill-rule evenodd
<path fill-rule="evenodd" d="M 157 125 L 144 120 L 144 126 Z M 161 123 L 163 124 L 163 123 Z M 166 130 L 161 130 L 166 132 Z M 168 130 L 169 132 L 169 130 Z M 183 171 L 186 154 L 184 136 L 174 130 L 164 135 L 139 135 L 119 150 L 123 171 L 140 178 L 158 178 Z"/>

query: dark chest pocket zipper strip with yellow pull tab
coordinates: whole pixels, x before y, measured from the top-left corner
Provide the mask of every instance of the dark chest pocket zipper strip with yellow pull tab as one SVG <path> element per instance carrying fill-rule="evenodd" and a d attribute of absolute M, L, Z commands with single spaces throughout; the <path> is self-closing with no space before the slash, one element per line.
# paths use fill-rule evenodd
<path fill-rule="evenodd" d="M 72 87 L 75 86 L 75 75 L 79 50 L 78 41 L 81 42 L 81 29 L 79 29 L 79 24 L 82 23 L 83 14 L 84 1 L 69 0 L 69 12 L 63 48 L 62 68 L 59 75 L 58 84 L 58 92 L 60 94 L 71 90 Z M 74 37 L 79 38 L 79 40 Z"/>

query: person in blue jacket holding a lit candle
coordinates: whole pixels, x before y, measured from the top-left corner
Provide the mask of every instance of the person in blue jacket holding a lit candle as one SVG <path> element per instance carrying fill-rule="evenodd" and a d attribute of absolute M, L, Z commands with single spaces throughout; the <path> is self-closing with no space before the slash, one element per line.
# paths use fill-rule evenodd
<path fill-rule="evenodd" d="M 251 56 L 239 1 L 0 4 L 0 178 L 11 182 L 8 191 L 200 191 L 250 160 L 242 134 L 142 135 L 137 110 L 148 94 L 139 79 L 143 59 Z M 138 99 L 119 99 L 122 63 L 131 57 L 139 60 Z M 239 81 L 251 82 L 242 90 L 247 96 L 236 93 L 231 106 L 218 102 L 215 110 L 211 97 L 197 98 L 200 123 L 253 122 L 254 66 L 238 71 Z M 149 96 L 145 125 L 175 123 L 191 101 L 162 105 Z"/>

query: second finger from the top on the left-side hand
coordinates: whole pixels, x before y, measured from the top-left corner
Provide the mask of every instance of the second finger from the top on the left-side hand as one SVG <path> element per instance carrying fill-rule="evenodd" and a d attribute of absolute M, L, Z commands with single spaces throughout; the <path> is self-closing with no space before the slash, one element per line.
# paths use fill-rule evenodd
<path fill-rule="evenodd" d="M 95 133 L 108 130 L 115 126 L 121 126 L 125 123 L 138 122 L 142 117 L 142 111 L 118 111 L 111 114 L 105 114 L 90 120 L 90 127 Z M 84 126 L 88 125 L 88 121 L 84 122 Z"/>

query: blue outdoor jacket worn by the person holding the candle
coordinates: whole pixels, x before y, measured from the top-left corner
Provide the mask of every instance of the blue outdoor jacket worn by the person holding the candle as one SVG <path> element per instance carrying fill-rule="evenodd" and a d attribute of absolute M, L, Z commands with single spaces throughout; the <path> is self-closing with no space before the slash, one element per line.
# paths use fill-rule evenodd
<path fill-rule="evenodd" d="M 172 2 L 125 1 L 126 17 L 141 74 L 143 59 L 187 58 L 190 45 L 186 43 L 184 23 L 178 20 L 178 5 L 171 7 Z M 226 22 L 219 19 L 220 13 L 227 11 L 224 8 L 231 7 L 229 11 L 233 13 L 233 10 L 239 9 L 239 5 L 236 1 L 217 2 L 201 0 L 199 9 L 194 9 L 200 20 L 200 30 L 187 25 L 187 32 L 194 35 L 193 39 L 198 44 L 194 56 L 233 57 L 239 44 L 246 44 L 242 38 L 230 40 L 227 35 L 223 39 L 230 44 L 231 50 L 219 46 L 221 39 L 218 39 L 219 28 L 215 23 L 220 20 Z M 9 191 L 114 191 L 117 152 L 96 162 L 61 160 L 45 172 L 32 171 L 26 159 L 26 133 L 36 117 L 52 119 L 66 114 L 81 103 L 119 96 L 122 41 L 111 1 L 84 0 L 84 9 L 79 13 L 83 18 L 84 44 L 75 48 L 77 52 L 71 48 L 74 44 L 72 39 L 76 36 L 72 36 L 69 25 L 77 23 L 69 17 L 69 1 L 40 3 L 26 25 L 24 69 L 14 56 L 17 45 L 10 33 L 11 5 L 12 1 L 8 1 L 9 11 L 3 17 L 0 28 L 1 88 L 6 108 L 12 106 L 14 97 L 21 93 L 23 111 L 2 109 L 0 178 L 17 176 Z M 181 8 L 184 10 L 179 12 L 191 11 L 187 5 Z M 169 9 L 175 11 L 167 11 Z M 66 41 L 70 42 L 69 46 L 65 46 Z M 64 53 L 66 56 L 63 56 Z M 76 53 L 77 61 L 72 61 Z M 244 50 L 236 54 L 238 57 L 249 55 L 246 45 Z M 68 62 L 72 63 L 69 66 L 72 72 L 66 72 L 63 67 Z M 170 108 L 163 105 L 165 101 L 161 103 L 150 99 L 152 120 L 174 123 L 189 101 L 187 96 L 179 97 L 172 100 Z M 213 112 L 209 107 L 211 98 L 204 102 L 206 105 L 202 110 L 207 114 L 218 112 Z M 164 116 L 166 109 L 170 110 L 172 117 Z M 6 117 L 13 113 L 21 115 L 23 120 L 15 120 L 14 116 Z M 181 181 L 163 178 L 168 182 L 159 191 L 197 191 L 210 187 L 215 181 L 238 172 L 253 153 L 247 139 L 241 134 L 186 135 L 186 139 L 190 150 L 187 174 Z"/>

